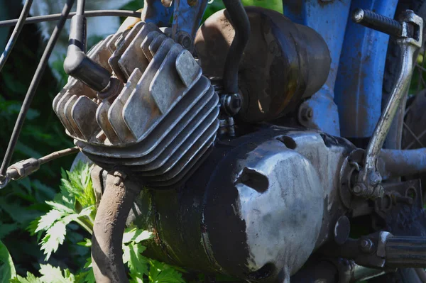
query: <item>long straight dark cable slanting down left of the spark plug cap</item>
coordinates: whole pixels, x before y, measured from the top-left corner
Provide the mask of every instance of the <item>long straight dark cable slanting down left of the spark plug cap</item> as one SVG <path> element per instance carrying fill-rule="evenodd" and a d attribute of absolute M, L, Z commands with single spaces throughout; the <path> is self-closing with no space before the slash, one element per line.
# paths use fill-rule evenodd
<path fill-rule="evenodd" d="M 19 111 L 18 118 L 16 119 L 15 127 L 13 128 L 11 139 L 9 140 L 9 145 L 6 150 L 6 154 L 4 155 L 4 160 L 1 163 L 1 168 L 0 168 L 1 179 L 4 179 L 6 176 L 6 170 L 7 170 L 7 167 L 9 167 L 9 164 L 11 162 L 13 150 L 15 149 L 16 143 L 18 142 L 19 134 L 21 133 L 23 122 L 25 121 L 25 118 L 26 118 L 26 113 L 28 112 L 28 109 L 30 108 L 31 101 L 33 101 L 35 91 L 37 90 L 37 87 L 38 87 L 38 84 L 40 83 L 40 79 L 43 75 L 43 72 L 46 66 L 48 65 L 48 59 L 50 57 L 50 54 L 53 51 L 53 48 L 55 47 L 56 42 L 58 41 L 61 30 L 65 25 L 65 21 L 67 20 L 67 16 L 70 13 L 72 4 L 74 4 L 74 0 L 67 0 L 67 3 L 62 9 L 62 16 L 60 17 L 58 24 L 55 26 L 55 29 L 53 30 L 53 33 L 50 36 L 48 45 L 46 45 L 46 48 L 43 52 L 40 62 L 38 63 L 37 70 L 35 70 L 33 79 L 31 80 L 30 87 L 28 87 L 28 91 L 26 93 L 25 99 L 23 100 L 21 110 Z"/>

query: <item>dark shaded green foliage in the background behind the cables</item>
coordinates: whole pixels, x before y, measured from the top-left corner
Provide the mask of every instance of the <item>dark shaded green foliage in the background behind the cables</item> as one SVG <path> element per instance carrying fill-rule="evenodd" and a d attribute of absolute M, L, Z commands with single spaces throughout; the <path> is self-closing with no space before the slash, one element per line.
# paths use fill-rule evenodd
<path fill-rule="evenodd" d="M 263 6 L 282 11 L 280 0 L 243 0 L 243 2 L 244 5 Z M 0 4 L 2 4 L 1 19 L 18 18 L 21 12 L 20 1 L 0 1 Z M 143 0 L 134 0 L 122 9 L 136 10 L 142 6 Z M 219 9 L 224 9 L 222 1 L 214 0 L 207 7 L 204 18 Z M 0 33 L 8 35 L 7 38 L 9 38 L 11 29 L 4 28 L 0 30 Z M 21 108 L 21 101 L 44 47 L 45 42 L 40 38 L 38 26 L 26 25 L 0 74 L 1 156 L 6 152 L 13 125 Z M 45 71 L 31 104 L 31 110 L 28 112 L 12 162 L 28 157 L 42 157 L 73 145 L 51 108 L 53 98 L 67 79 L 62 69 L 62 62 L 55 62 L 53 69 L 63 74 L 62 79 L 59 81 L 55 79 L 53 70 Z M 31 235 L 28 226 L 35 218 L 50 210 L 50 206 L 45 201 L 52 200 L 59 192 L 60 168 L 69 169 L 73 158 L 65 157 L 43 165 L 31 177 L 11 182 L 0 191 L 0 241 L 9 249 L 16 265 L 16 273 L 21 276 L 25 276 L 27 271 L 38 274 L 40 263 L 45 263 L 37 235 Z M 60 246 L 58 252 L 53 254 L 48 262 L 62 269 L 69 268 L 72 272 L 78 270 L 87 258 L 87 248 L 76 244 L 84 238 L 89 238 L 87 232 L 71 223 L 67 226 L 65 244 Z M 4 246 L 0 243 L 0 253 L 3 250 Z M 0 282 L 2 282 L 1 274 Z"/>

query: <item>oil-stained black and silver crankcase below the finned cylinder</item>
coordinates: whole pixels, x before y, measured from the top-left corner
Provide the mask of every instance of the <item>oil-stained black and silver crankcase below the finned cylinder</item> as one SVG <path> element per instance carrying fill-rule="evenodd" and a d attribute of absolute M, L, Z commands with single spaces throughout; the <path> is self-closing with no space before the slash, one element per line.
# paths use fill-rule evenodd
<path fill-rule="evenodd" d="M 202 272 L 284 282 L 332 238 L 339 172 L 353 145 L 271 126 L 219 142 L 182 187 L 145 189 L 128 223 L 146 255 Z"/>

